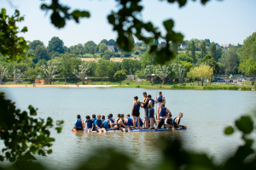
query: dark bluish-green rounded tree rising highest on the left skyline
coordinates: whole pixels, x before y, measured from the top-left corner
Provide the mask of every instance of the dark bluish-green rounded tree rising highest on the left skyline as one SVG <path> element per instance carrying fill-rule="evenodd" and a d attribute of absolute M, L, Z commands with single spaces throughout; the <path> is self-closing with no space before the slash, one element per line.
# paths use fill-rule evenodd
<path fill-rule="evenodd" d="M 49 52 L 64 54 L 64 42 L 59 37 L 52 37 L 47 47 Z"/>

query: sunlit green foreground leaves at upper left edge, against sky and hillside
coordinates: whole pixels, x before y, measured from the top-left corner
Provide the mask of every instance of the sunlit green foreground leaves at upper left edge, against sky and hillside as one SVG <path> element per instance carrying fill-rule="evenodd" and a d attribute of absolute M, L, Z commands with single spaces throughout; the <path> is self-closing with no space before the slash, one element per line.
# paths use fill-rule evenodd
<path fill-rule="evenodd" d="M 0 13 L 0 54 L 5 56 L 7 60 L 14 61 L 18 63 L 21 60 L 26 60 L 26 57 L 32 57 L 32 54 L 27 54 L 26 48 L 29 48 L 28 42 L 24 37 L 18 37 L 20 32 L 25 33 L 27 31 L 26 26 L 24 26 L 21 31 L 19 27 L 16 26 L 17 22 L 24 20 L 24 16 L 20 17 L 20 12 L 15 10 L 15 14 L 9 16 L 6 14 L 5 8 L 1 9 Z"/>

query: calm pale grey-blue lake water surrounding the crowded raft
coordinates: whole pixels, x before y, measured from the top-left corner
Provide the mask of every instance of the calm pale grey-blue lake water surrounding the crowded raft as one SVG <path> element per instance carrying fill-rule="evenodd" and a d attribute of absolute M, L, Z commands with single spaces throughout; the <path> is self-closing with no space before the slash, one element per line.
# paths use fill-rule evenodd
<path fill-rule="evenodd" d="M 54 169 L 67 169 L 79 165 L 79 158 L 88 157 L 93 150 L 102 146 L 113 146 L 130 153 L 138 162 L 153 165 L 160 159 L 154 147 L 154 139 L 160 135 L 170 138 L 183 138 L 183 147 L 205 152 L 214 156 L 217 162 L 224 161 L 239 144 L 240 133 L 231 137 L 224 135 L 224 127 L 233 126 L 241 115 L 250 113 L 256 104 L 253 91 L 199 91 L 161 90 L 166 97 L 166 107 L 172 116 L 183 112 L 183 131 L 145 133 L 72 133 L 76 116 L 84 119 L 87 115 L 113 113 L 131 114 L 133 97 L 143 100 L 143 92 L 154 99 L 156 90 L 143 88 L 0 88 L 7 98 L 13 99 L 17 107 L 27 111 L 28 105 L 38 108 L 38 116 L 52 117 L 55 121 L 64 120 L 60 134 L 52 130 L 55 143 L 53 154 L 40 157 L 47 166 Z M 141 111 L 143 112 L 143 111 Z M 256 139 L 255 136 L 253 136 Z"/>

